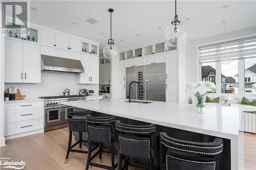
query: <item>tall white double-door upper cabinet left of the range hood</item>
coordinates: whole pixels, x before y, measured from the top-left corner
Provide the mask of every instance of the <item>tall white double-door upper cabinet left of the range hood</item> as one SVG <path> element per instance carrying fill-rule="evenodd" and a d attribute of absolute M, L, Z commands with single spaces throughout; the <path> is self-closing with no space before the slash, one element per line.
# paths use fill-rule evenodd
<path fill-rule="evenodd" d="M 39 45 L 30 42 L 5 39 L 5 82 L 41 82 Z"/>

